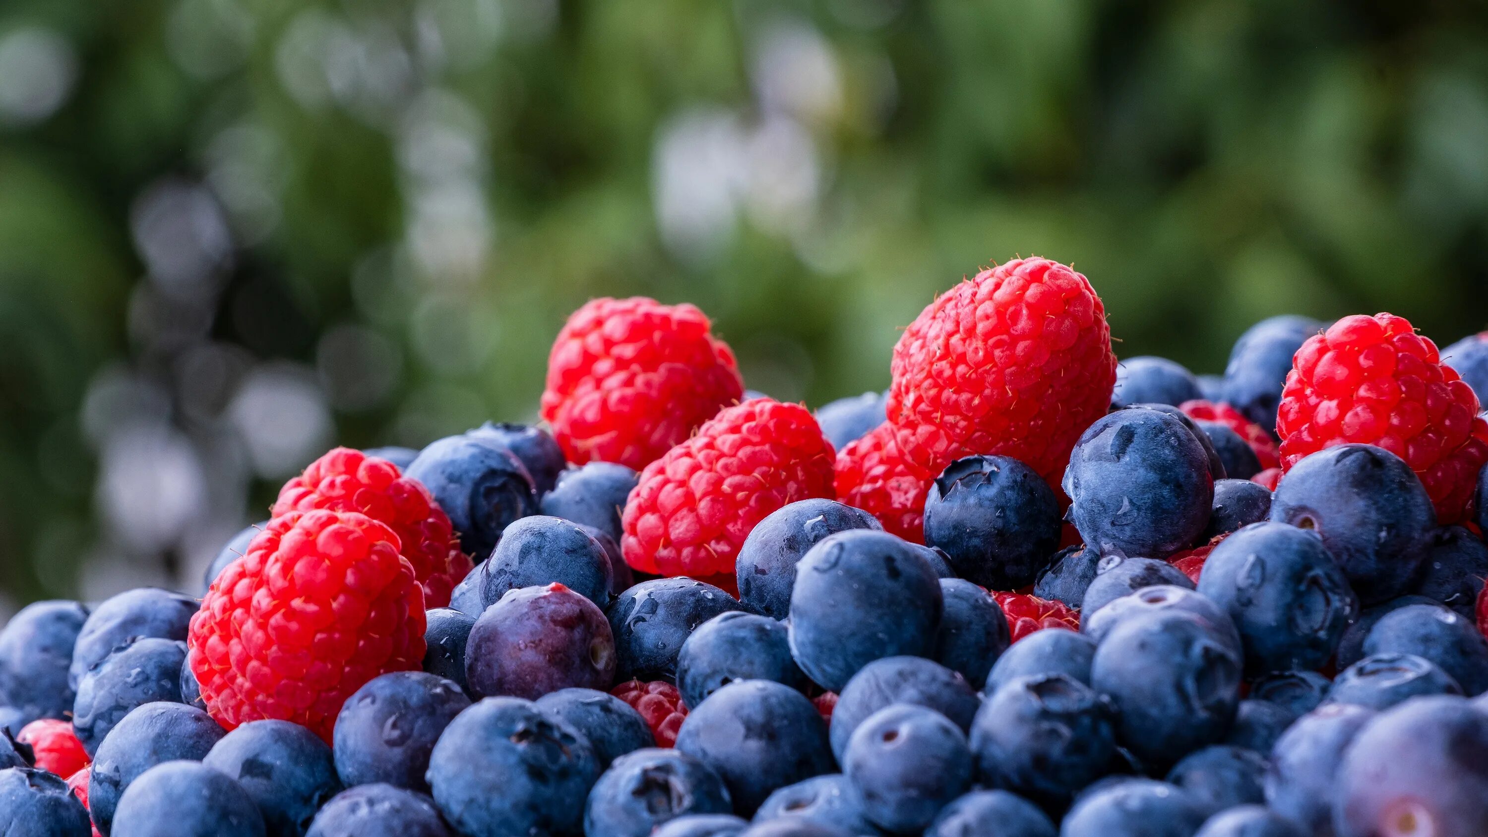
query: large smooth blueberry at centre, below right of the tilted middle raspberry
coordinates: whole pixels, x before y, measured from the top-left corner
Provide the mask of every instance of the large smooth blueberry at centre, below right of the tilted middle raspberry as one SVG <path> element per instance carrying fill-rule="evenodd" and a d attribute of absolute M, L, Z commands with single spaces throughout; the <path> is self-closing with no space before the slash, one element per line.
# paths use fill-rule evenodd
<path fill-rule="evenodd" d="M 887 532 L 850 531 L 806 552 L 790 596 L 790 653 L 806 676 L 841 691 L 868 663 L 934 653 L 940 581 Z"/>

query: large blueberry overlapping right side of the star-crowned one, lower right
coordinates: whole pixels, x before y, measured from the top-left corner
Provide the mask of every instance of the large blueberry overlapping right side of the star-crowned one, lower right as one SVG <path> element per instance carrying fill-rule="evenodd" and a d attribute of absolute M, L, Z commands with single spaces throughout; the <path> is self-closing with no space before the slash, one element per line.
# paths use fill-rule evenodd
<path fill-rule="evenodd" d="M 1091 685 L 1119 712 L 1117 740 L 1144 763 L 1173 764 L 1217 743 L 1240 703 L 1241 657 L 1198 615 L 1126 620 L 1095 648 Z"/>

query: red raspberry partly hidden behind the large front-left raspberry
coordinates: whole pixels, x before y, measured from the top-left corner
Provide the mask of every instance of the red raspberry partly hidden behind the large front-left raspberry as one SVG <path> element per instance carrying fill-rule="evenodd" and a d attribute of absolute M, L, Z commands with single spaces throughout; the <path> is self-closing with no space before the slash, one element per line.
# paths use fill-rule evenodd
<path fill-rule="evenodd" d="M 387 523 L 402 544 L 403 558 L 414 565 L 424 607 L 446 607 L 449 592 L 473 566 L 429 489 L 402 476 L 387 459 L 336 447 L 284 483 L 274 516 L 315 508 L 360 511 Z"/>

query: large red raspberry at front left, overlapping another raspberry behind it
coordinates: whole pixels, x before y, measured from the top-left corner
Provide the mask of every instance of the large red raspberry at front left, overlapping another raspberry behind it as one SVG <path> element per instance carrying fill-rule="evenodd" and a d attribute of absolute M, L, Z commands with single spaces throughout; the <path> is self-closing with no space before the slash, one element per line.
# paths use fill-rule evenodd
<path fill-rule="evenodd" d="M 225 728 L 278 718 L 330 740 L 369 679 L 424 660 L 424 592 L 393 529 L 356 511 L 275 517 L 190 620 L 190 668 Z"/>

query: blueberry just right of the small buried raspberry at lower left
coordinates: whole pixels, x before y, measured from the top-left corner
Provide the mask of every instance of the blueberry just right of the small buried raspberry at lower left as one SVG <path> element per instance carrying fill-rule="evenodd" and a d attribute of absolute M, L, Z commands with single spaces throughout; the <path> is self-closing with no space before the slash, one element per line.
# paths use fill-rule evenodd
<path fill-rule="evenodd" d="M 109 834 L 119 797 L 141 773 L 165 761 L 205 758 L 225 734 L 217 721 L 185 703 L 146 703 L 125 715 L 98 745 L 88 776 L 98 831 Z"/>

